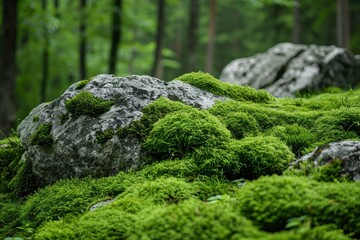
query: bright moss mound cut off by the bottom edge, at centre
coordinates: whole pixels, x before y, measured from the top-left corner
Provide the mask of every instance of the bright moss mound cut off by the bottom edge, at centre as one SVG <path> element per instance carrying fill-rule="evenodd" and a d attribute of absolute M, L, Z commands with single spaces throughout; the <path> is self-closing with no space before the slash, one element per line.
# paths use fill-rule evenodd
<path fill-rule="evenodd" d="M 211 240 L 231 239 L 235 234 L 239 237 L 237 239 L 262 236 L 250 221 L 235 213 L 228 204 L 188 200 L 155 208 L 139 218 L 128 239 Z"/>

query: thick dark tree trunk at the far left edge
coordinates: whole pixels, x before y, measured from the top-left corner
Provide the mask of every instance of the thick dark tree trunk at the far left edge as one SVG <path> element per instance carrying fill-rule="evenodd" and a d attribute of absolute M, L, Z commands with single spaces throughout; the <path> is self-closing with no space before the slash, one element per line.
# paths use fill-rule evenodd
<path fill-rule="evenodd" d="M 16 31 L 17 0 L 2 1 L 2 41 L 0 58 L 0 138 L 9 135 L 16 123 Z"/>

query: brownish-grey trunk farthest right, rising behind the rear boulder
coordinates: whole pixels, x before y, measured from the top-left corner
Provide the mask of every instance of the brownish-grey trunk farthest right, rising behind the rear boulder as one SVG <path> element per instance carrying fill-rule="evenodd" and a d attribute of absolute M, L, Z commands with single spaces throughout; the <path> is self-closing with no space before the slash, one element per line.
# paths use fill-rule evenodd
<path fill-rule="evenodd" d="M 349 1 L 337 0 L 336 4 L 336 27 L 337 43 L 339 47 L 349 48 L 350 41 L 350 21 L 349 21 Z"/>

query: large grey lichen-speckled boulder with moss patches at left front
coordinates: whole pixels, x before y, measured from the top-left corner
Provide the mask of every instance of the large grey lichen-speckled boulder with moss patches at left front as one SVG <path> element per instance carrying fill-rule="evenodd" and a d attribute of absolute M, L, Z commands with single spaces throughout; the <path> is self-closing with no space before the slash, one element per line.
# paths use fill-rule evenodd
<path fill-rule="evenodd" d="M 45 184 L 63 178 L 103 177 L 136 168 L 144 153 L 138 138 L 116 132 L 160 97 L 206 109 L 224 100 L 178 80 L 98 75 L 71 85 L 59 98 L 33 109 L 18 126 L 24 159 Z"/>

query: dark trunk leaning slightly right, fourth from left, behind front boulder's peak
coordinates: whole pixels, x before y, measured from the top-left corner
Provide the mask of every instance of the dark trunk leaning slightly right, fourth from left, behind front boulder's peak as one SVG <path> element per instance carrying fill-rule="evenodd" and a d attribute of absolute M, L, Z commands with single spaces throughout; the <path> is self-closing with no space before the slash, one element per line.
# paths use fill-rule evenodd
<path fill-rule="evenodd" d="M 116 74 L 116 60 L 118 54 L 118 46 L 121 41 L 121 15 L 122 0 L 113 0 L 113 16 L 112 16 L 112 38 L 109 59 L 109 73 Z"/>

